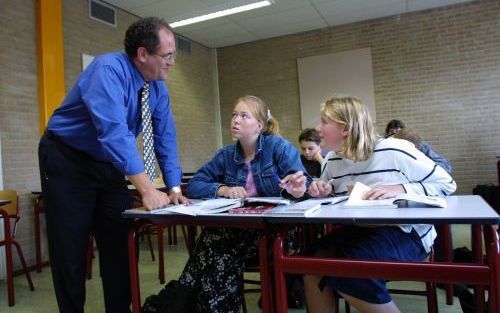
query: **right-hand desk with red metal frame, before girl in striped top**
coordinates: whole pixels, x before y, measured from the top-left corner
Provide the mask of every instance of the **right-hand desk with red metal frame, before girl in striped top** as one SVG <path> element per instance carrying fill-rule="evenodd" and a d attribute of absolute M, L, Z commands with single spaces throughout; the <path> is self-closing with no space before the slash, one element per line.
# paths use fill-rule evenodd
<path fill-rule="evenodd" d="M 323 206 L 308 218 L 270 217 L 268 223 L 366 224 L 471 224 L 474 263 L 366 261 L 342 258 L 287 256 L 283 253 L 285 230 L 274 241 L 275 299 L 277 312 L 287 312 L 285 273 L 342 277 L 379 277 L 389 280 L 463 282 L 476 285 L 476 312 L 484 312 L 484 289 L 490 286 L 490 312 L 500 312 L 500 245 L 492 227 L 498 214 L 479 196 L 447 197 L 448 208 L 345 209 L 341 204 Z M 484 229 L 481 225 L 484 225 Z M 483 264 L 483 236 L 488 257 Z"/>

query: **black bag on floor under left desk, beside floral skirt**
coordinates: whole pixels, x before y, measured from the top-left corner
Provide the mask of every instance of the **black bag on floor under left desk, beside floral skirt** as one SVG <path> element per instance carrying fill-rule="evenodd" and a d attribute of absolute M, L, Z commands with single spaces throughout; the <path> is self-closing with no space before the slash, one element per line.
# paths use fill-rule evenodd
<path fill-rule="evenodd" d="M 160 293 L 146 298 L 141 313 L 199 313 L 196 295 L 194 288 L 171 280 Z"/>

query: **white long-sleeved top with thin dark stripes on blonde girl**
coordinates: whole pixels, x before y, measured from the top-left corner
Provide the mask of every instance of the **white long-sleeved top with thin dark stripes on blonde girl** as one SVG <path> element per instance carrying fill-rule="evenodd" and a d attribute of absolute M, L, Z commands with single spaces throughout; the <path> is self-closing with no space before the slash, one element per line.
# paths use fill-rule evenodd
<path fill-rule="evenodd" d="M 347 193 L 347 186 L 361 182 L 377 185 L 402 184 L 409 194 L 447 196 L 457 185 L 440 166 L 426 157 L 415 146 L 396 138 L 381 139 L 367 161 L 354 162 L 331 151 L 325 157 L 321 179 L 330 181 L 336 194 Z M 415 229 L 427 252 L 430 251 L 436 231 L 432 225 L 398 225 L 410 233 Z"/>

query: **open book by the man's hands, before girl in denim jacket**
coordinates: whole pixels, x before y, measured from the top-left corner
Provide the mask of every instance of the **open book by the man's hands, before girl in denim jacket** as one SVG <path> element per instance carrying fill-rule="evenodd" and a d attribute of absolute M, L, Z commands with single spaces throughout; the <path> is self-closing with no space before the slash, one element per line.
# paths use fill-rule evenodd
<path fill-rule="evenodd" d="M 152 214 L 178 213 L 187 215 L 207 215 L 229 211 L 240 208 L 247 203 L 255 204 L 289 204 L 290 200 L 280 197 L 250 197 L 239 199 L 215 198 L 194 202 L 191 205 L 169 205 L 161 209 L 151 210 Z"/>

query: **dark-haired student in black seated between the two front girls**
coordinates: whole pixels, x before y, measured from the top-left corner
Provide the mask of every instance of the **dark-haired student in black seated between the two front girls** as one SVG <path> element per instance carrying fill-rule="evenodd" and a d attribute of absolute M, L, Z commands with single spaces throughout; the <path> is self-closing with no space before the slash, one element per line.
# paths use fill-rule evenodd
<path fill-rule="evenodd" d="M 301 147 L 300 160 L 311 177 L 319 178 L 321 175 L 321 164 L 323 156 L 321 155 L 321 138 L 314 128 L 304 129 L 299 136 Z"/>

